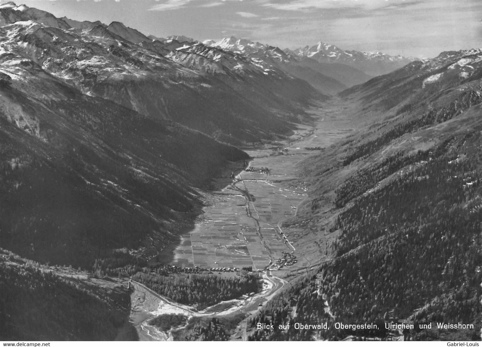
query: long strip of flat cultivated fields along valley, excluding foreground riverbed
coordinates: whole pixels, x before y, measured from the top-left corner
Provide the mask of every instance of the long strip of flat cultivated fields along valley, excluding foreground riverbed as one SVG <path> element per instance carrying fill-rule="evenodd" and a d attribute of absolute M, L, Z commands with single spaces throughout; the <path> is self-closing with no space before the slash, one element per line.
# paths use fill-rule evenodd
<path fill-rule="evenodd" d="M 216 202 L 204 207 L 203 220 L 183 235 L 171 263 L 214 269 L 251 266 L 263 270 L 270 266 L 274 270 L 275 261 L 283 257 L 281 252 L 295 251 L 296 268 L 312 265 L 304 250 L 296 249 L 296 230 L 280 226 L 295 216 L 306 197 L 306 187 L 297 181 L 296 164 L 316 153 L 307 148 L 327 147 L 352 131 L 344 129 L 343 118 L 319 117 L 316 129 L 300 125 L 285 146 L 246 151 L 253 158 L 249 167 L 254 171 L 241 171 L 231 185 L 214 193 Z M 263 168 L 269 172 L 264 173 Z"/>

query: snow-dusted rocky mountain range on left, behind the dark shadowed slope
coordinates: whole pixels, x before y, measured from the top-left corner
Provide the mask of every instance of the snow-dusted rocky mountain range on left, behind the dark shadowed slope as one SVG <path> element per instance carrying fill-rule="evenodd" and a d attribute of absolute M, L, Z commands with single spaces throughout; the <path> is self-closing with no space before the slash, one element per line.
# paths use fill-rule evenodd
<path fill-rule="evenodd" d="M 306 118 L 303 105 L 323 98 L 309 84 L 249 60 L 244 62 L 250 71 L 247 76 L 226 57 L 223 69 L 233 71 L 218 78 L 209 67 L 193 71 L 166 58 L 185 46 L 174 39 L 153 41 L 118 22 L 109 26 L 68 22 L 45 13 L 29 15 L 37 12 L 23 10 L 25 6 L 9 6 L 0 8 L 7 24 L 2 27 L 3 54 L 33 60 L 83 93 L 145 116 L 180 122 L 221 141 L 251 143 L 287 134 L 292 128 L 288 117 Z M 22 21 L 17 22 L 17 17 Z M 42 21 L 48 25 L 39 24 Z M 211 56 L 203 63 L 217 64 L 216 59 Z M 249 93 L 244 95 L 243 90 Z"/>

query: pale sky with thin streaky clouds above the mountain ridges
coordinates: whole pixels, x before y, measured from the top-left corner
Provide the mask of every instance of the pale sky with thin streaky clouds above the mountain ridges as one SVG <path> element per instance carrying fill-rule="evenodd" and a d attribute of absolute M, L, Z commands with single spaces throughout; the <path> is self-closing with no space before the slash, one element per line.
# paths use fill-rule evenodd
<path fill-rule="evenodd" d="M 482 47 L 482 0 L 17 0 L 57 17 L 123 22 L 158 37 L 319 41 L 418 58 Z M 5 1 L 2 1 L 5 2 Z"/>

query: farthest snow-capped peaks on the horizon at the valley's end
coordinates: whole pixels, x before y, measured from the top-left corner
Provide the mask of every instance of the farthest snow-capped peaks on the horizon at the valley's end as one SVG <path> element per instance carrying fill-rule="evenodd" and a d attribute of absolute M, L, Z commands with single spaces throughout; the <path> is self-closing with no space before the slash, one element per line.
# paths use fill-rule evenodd
<path fill-rule="evenodd" d="M 370 76 L 388 74 L 415 60 L 414 58 L 405 58 L 400 55 L 390 56 L 381 52 L 344 51 L 321 41 L 314 46 L 285 51 L 297 57 L 314 59 L 319 63 L 346 64 Z"/>

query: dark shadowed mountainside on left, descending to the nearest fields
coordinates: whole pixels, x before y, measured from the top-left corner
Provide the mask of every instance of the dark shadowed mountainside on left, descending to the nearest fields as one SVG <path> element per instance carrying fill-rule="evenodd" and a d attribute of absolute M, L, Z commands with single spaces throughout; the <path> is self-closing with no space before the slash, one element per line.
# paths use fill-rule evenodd
<path fill-rule="evenodd" d="M 24 257 L 89 266 L 114 248 L 162 248 L 201 203 L 191 187 L 247 158 L 82 94 L 13 53 L 0 59 L 0 237 Z"/>

